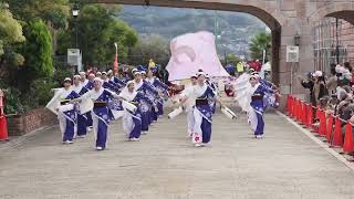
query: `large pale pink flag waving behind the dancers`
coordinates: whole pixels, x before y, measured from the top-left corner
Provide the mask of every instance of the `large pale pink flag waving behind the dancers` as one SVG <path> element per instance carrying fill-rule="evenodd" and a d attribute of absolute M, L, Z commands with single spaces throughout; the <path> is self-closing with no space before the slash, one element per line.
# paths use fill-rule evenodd
<path fill-rule="evenodd" d="M 187 33 L 170 42 L 171 57 L 166 66 L 168 80 L 184 80 L 199 69 L 211 77 L 229 76 L 218 59 L 215 35 L 207 31 Z"/>

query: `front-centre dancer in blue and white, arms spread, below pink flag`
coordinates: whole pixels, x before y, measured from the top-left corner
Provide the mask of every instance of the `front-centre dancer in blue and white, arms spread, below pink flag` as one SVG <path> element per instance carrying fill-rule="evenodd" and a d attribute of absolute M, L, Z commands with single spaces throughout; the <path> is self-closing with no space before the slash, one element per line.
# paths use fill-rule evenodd
<path fill-rule="evenodd" d="M 189 97 L 196 98 L 196 106 L 194 108 L 194 133 L 192 144 L 196 147 L 205 146 L 210 143 L 211 138 L 211 121 L 212 121 L 212 108 L 209 105 L 209 101 L 218 101 L 222 106 L 221 102 L 217 98 L 216 93 L 206 83 L 206 73 L 199 71 L 197 73 L 197 85 L 185 94 L 185 97 L 180 100 L 184 104 Z"/>

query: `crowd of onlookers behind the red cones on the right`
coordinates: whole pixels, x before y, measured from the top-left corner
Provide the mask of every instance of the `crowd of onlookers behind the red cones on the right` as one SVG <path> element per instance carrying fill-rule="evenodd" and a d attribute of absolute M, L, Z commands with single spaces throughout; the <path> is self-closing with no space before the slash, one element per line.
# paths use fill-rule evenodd
<path fill-rule="evenodd" d="M 350 63 L 331 64 L 330 74 L 315 71 L 308 73 L 308 80 L 300 81 L 310 91 L 311 104 L 326 111 L 327 118 L 333 114 L 354 124 L 354 71 Z M 314 118 L 314 124 L 316 122 Z M 342 126 L 345 126 L 344 122 Z M 342 133 L 344 134 L 344 129 Z"/>

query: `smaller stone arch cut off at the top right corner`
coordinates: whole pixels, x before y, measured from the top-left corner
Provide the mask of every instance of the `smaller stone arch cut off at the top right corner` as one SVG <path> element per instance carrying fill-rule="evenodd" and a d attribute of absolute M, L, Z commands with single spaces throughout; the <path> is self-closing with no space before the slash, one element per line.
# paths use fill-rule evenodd
<path fill-rule="evenodd" d="M 308 20 L 313 24 L 326 17 L 344 19 L 354 24 L 354 2 L 352 0 L 346 0 L 345 2 L 332 2 L 320 7 L 310 14 Z"/>

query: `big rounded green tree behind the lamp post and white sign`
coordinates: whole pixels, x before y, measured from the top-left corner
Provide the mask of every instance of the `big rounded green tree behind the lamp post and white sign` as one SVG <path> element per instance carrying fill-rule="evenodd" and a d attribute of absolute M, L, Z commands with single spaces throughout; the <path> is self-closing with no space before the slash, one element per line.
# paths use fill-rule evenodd
<path fill-rule="evenodd" d="M 69 31 L 59 33 L 58 54 L 65 54 L 66 49 L 73 48 L 77 39 L 79 48 L 83 53 L 83 63 L 101 69 L 114 61 L 114 43 L 118 44 L 118 57 L 125 59 L 128 48 L 137 42 L 137 34 L 124 21 L 116 19 L 119 7 L 105 7 L 102 4 L 86 4 L 81 9 L 77 19 L 69 23 Z"/>

